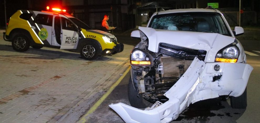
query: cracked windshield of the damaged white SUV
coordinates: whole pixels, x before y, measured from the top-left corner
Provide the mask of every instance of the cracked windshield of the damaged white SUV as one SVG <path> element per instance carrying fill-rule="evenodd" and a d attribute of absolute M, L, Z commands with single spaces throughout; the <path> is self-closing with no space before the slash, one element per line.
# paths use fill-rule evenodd
<path fill-rule="evenodd" d="M 155 15 L 149 27 L 162 30 L 220 33 L 231 36 L 218 13 L 189 12 Z"/>

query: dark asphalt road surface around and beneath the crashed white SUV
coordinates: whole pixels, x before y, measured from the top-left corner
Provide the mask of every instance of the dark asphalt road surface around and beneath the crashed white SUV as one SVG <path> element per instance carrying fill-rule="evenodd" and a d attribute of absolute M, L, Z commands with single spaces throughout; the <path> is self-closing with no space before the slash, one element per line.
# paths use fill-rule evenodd
<path fill-rule="evenodd" d="M 120 36 L 117 36 L 120 39 Z M 134 45 L 136 40 L 122 37 L 125 39 L 124 43 Z M 260 41 L 257 40 L 240 40 L 244 49 L 248 52 L 260 55 Z M 258 52 L 255 52 L 258 51 Z M 246 109 L 232 109 L 230 106 L 230 99 L 208 99 L 191 104 L 184 110 L 178 119 L 172 123 L 179 122 L 259 122 L 260 118 L 260 57 L 247 54 L 247 63 L 253 66 L 253 71 L 249 77 L 247 85 L 247 108 Z M 111 103 L 122 102 L 130 105 L 127 97 L 127 87 L 130 73 L 123 78 L 119 85 L 112 91 L 112 93 L 100 104 L 95 112 L 85 117 L 86 122 L 124 122 L 120 116 L 108 107 Z"/>

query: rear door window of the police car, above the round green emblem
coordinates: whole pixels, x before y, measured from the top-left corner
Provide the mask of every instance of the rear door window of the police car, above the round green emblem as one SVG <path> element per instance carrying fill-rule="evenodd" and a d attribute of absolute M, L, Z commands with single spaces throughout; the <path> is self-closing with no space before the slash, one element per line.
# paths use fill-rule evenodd
<path fill-rule="evenodd" d="M 37 14 L 34 23 L 52 26 L 53 15 Z"/>

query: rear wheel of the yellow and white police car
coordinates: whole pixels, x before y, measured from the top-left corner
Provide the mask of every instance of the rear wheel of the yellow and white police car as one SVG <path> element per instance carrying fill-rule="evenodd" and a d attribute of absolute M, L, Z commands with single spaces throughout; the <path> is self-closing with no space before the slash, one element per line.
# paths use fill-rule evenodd
<path fill-rule="evenodd" d="M 24 35 L 16 35 L 12 41 L 12 47 L 15 51 L 24 52 L 30 47 L 29 39 Z"/>

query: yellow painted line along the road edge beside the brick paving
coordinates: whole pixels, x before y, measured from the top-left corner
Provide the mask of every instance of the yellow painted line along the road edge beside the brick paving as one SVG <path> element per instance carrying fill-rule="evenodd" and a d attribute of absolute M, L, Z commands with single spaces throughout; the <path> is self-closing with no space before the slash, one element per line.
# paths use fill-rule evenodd
<path fill-rule="evenodd" d="M 108 95 L 116 88 L 116 86 L 122 81 L 122 79 L 126 76 L 126 74 L 129 72 L 131 69 L 131 66 L 124 72 L 123 76 L 121 76 L 109 89 L 108 91 L 87 111 L 87 113 L 82 116 L 82 118 L 79 120 L 81 123 L 85 123 L 86 116 L 89 114 L 93 113 L 99 106 L 100 104 L 108 97 Z"/>

